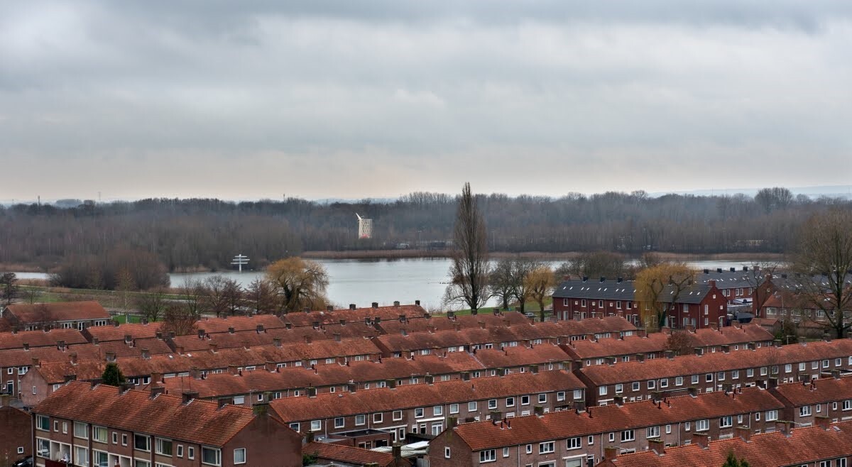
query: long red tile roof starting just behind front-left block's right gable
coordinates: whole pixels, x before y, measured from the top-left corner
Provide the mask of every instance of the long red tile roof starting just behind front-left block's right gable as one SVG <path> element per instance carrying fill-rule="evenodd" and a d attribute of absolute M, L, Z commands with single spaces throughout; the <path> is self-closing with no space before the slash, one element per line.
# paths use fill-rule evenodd
<path fill-rule="evenodd" d="M 571 389 L 584 389 L 583 383 L 571 373 L 524 372 L 504 377 L 476 378 L 471 381 L 406 384 L 395 389 L 365 389 L 354 393 L 290 397 L 272 401 L 271 408 L 283 421 L 296 422 Z"/>

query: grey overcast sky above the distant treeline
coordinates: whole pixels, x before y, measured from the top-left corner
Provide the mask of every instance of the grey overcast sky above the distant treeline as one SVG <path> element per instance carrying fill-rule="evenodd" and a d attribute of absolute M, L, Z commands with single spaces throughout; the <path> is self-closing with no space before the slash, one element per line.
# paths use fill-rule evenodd
<path fill-rule="evenodd" d="M 0 0 L 0 200 L 849 184 L 852 2 Z"/>

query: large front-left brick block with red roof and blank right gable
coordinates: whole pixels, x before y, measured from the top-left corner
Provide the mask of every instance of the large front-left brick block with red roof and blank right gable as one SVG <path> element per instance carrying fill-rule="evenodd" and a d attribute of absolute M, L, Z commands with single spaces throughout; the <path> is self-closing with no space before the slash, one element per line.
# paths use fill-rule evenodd
<path fill-rule="evenodd" d="M 32 410 L 36 464 L 302 465 L 302 436 L 254 409 L 72 382 Z"/>

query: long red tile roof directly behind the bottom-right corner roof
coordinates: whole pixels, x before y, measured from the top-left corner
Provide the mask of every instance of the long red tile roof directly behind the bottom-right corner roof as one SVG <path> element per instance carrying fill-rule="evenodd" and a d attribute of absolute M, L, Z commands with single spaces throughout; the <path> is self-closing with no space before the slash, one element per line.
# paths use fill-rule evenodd
<path fill-rule="evenodd" d="M 590 407 L 588 412 L 551 412 L 543 417 L 510 418 L 510 429 L 492 422 L 460 424 L 454 434 L 472 451 L 515 446 L 538 441 L 560 440 L 630 428 L 717 418 L 722 415 L 778 410 L 784 405 L 763 389 L 746 388 L 739 394 L 707 393 L 695 397 L 670 397 L 659 406 L 653 401 L 623 406 Z"/>

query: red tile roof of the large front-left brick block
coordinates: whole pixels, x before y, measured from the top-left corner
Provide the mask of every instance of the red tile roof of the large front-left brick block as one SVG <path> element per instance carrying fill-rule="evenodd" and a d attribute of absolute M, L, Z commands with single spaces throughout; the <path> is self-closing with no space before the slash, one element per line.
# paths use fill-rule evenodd
<path fill-rule="evenodd" d="M 62 386 L 32 412 L 120 430 L 164 436 L 221 447 L 254 418 L 250 408 L 218 407 L 215 402 L 182 403 L 181 396 L 126 391 L 112 386 L 72 382 Z"/>

